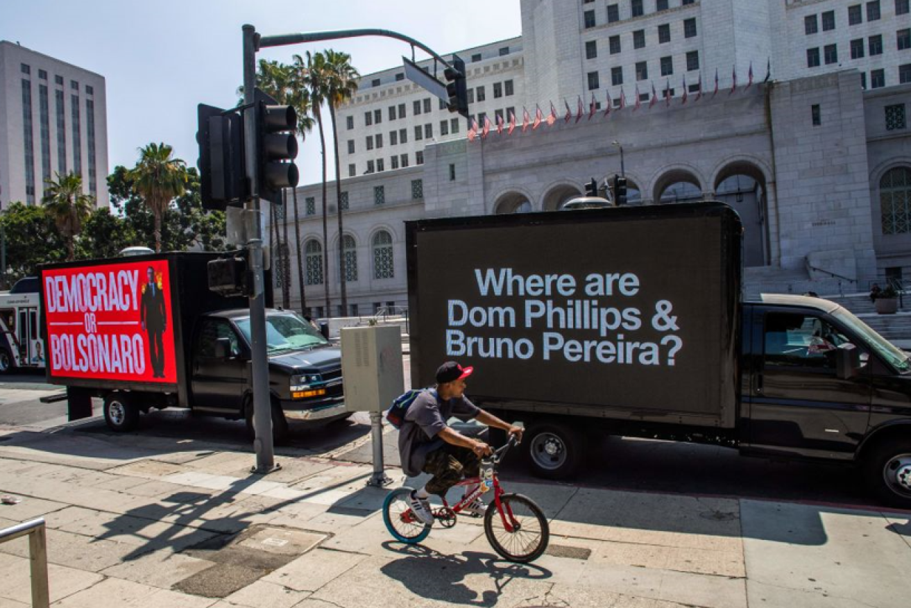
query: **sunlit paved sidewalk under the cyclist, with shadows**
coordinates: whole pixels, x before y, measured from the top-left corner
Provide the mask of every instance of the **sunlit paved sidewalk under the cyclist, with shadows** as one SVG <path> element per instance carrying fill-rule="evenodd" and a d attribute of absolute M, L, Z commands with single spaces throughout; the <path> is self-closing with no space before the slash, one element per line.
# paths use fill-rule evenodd
<path fill-rule="evenodd" d="M 0 494 L 22 499 L 0 528 L 46 519 L 60 607 L 907 605 L 908 513 L 505 479 L 551 518 L 548 553 L 517 565 L 479 520 L 394 542 L 367 448 L 280 450 L 261 477 L 215 443 L 0 429 Z M 27 555 L 0 544 L 0 608 L 30 605 Z"/>

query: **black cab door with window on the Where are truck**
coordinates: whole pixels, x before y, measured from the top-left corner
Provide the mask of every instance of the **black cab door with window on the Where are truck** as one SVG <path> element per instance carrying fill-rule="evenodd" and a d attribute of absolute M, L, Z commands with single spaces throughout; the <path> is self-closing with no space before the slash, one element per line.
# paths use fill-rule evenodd
<path fill-rule="evenodd" d="M 753 324 L 750 448 L 852 458 L 867 428 L 872 388 L 868 366 L 849 380 L 835 375 L 834 347 L 850 334 L 828 315 L 799 307 L 757 306 Z"/>

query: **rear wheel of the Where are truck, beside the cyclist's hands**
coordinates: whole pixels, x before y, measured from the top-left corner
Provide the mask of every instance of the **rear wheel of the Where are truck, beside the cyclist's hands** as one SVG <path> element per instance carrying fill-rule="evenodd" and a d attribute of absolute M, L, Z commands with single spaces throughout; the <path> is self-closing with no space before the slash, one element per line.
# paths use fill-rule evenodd
<path fill-rule="evenodd" d="M 566 479 L 578 469 L 584 441 L 576 429 L 560 423 L 529 428 L 522 438 L 531 471 L 545 479 Z"/>

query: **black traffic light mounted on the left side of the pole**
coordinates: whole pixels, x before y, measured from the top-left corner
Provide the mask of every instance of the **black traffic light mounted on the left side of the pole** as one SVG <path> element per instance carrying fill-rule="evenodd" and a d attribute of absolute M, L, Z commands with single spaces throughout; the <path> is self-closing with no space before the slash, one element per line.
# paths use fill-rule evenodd
<path fill-rule="evenodd" d="M 224 211 L 230 204 L 242 204 L 247 192 L 241 114 L 200 104 L 197 115 L 202 208 Z"/>

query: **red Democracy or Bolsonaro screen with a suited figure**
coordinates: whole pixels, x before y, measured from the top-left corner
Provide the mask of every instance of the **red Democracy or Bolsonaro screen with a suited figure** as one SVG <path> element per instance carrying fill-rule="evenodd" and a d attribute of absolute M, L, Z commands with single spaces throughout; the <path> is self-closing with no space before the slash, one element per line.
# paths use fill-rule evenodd
<path fill-rule="evenodd" d="M 167 260 L 46 268 L 50 376 L 177 382 Z"/>

